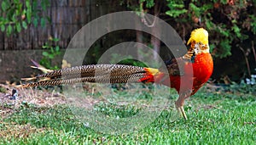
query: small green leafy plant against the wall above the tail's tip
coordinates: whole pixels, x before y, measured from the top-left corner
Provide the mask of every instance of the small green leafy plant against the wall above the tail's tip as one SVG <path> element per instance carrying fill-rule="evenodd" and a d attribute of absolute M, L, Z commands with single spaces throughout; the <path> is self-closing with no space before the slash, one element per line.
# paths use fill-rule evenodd
<path fill-rule="evenodd" d="M 60 69 L 58 66 L 52 66 L 52 60 L 55 59 L 58 55 L 61 54 L 61 50 L 59 46 L 54 46 L 55 42 L 58 42 L 58 38 L 50 38 L 49 42 L 46 42 L 43 46 L 45 51 L 43 51 L 43 59 L 40 60 L 40 64 L 42 64 L 45 68 L 49 70 L 58 70 Z"/>

